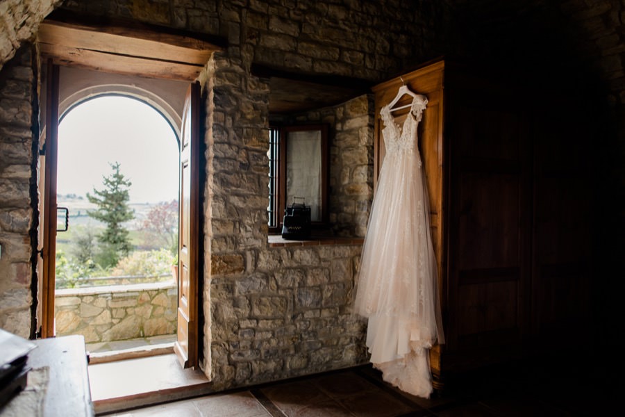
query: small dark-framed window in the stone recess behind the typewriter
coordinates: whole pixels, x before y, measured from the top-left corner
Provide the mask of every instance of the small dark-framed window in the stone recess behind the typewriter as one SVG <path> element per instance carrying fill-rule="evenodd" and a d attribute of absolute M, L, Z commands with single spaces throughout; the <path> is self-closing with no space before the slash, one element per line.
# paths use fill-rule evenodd
<path fill-rule="evenodd" d="M 328 224 L 328 126 L 272 127 L 267 156 L 269 231 L 281 231 L 284 209 L 294 197 L 310 206 L 313 227 Z"/>

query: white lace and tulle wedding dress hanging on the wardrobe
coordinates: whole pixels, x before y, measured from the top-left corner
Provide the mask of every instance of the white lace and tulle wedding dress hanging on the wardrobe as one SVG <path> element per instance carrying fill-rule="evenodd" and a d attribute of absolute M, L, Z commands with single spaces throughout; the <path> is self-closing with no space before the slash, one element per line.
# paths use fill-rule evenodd
<path fill-rule="evenodd" d="M 386 155 L 360 259 L 356 313 L 369 318 L 367 347 L 383 379 L 402 391 L 432 392 L 429 351 L 444 343 L 429 202 L 417 126 L 428 100 L 412 99 L 403 126 L 381 109 Z"/>

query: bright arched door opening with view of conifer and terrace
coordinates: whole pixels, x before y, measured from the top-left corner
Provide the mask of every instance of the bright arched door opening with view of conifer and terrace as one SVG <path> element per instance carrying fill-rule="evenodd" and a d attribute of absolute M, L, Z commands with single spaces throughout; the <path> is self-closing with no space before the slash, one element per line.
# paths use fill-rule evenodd
<path fill-rule="evenodd" d="M 58 336 L 82 334 L 96 354 L 173 343 L 178 159 L 169 120 L 136 95 L 94 95 L 60 117 Z"/>

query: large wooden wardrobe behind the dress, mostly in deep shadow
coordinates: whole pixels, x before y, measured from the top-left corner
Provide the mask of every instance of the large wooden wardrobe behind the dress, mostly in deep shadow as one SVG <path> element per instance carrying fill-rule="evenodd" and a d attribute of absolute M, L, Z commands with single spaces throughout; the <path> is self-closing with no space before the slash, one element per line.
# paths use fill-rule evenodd
<path fill-rule="evenodd" d="M 435 389 L 455 371 L 565 350 L 590 317 L 581 127 L 562 97 L 546 105 L 542 90 L 492 80 L 438 60 L 373 88 L 374 177 L 381 107 L 402 83 L 428 97 L 418 146 L 447 339 L 430 354 Z"/>

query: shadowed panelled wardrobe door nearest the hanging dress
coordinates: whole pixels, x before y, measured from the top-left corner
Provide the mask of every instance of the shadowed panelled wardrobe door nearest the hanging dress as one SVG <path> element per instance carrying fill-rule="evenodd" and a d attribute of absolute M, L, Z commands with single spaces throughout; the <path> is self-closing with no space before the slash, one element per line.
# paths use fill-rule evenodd
<path fill-rule="evenodd" d="M 449 365 L 462 366 L 472 354 L 507 357 L 526 334 L 531 146 L 528 114 L 512 97 L 462 90 L 453 97 L 447 349 Z"/>

